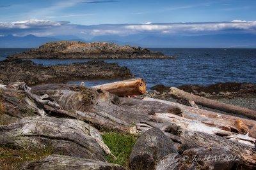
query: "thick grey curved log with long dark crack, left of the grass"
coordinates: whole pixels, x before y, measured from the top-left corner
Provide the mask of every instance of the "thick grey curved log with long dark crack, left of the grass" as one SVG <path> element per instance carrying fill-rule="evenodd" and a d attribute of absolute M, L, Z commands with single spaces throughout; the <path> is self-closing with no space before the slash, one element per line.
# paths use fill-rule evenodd
<path fill-rule="evenodd" d="M 72 157 L 105 160 L 110 153 L 99 132 L 74 119 L 28 117 L 0 126 L 0 145 L 16 148 L 52 147 L 53 153 Z"/>

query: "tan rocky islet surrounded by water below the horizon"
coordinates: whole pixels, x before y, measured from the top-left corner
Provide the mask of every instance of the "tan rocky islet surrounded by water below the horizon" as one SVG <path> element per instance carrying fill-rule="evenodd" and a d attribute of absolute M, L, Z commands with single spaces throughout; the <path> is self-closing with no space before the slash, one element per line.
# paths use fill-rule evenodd
<path fill-rule="evenodd" d="M 56 41 L 10 56 L 15 59 L 163 59 L 161 52 L 114 43 Z"/>

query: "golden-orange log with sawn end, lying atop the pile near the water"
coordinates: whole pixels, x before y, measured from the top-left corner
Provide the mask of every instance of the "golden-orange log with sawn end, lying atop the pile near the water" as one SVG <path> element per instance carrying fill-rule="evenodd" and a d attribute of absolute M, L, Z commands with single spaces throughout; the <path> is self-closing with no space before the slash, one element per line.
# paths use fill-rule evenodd
<path fill-rule="evenodd" d="M 137 96 L 145 94 L 146 92 L 145 81 L 141 78 L 116 81 L 114 83 L 93 86 L 92 88 L 106 90 L 117 96 Z"/>

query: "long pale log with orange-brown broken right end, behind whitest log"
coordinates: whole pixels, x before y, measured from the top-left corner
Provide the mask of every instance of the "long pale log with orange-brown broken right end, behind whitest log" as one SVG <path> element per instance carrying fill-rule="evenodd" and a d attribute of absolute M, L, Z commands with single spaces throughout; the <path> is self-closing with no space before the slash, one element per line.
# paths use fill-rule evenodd
<path fill-rule="evenodd" d="M 150 97 L 145 97 L 143 101 L 154 101 L 158 103 L 169 104 L 170 106 L 177 106 L 182 110 L 182 117 L 189 118 L 192 120 L 198 120 L 206 125 L 214 125 L 214 126 L 220 127 L 225 131 L 239 132 L 241 134 L 246 134 L 248 131 L 250 131 L 250 129 L 252 129 L 253 125 L 256 124 L 255 120 L 238 118 L 232 115 L 224 115 L 222 113 L 216 113 L 213 111 L 193 108 L 190 106 L 186 106 L 179 103 L 173 103 L 170 101 L 153 99 Z"/>

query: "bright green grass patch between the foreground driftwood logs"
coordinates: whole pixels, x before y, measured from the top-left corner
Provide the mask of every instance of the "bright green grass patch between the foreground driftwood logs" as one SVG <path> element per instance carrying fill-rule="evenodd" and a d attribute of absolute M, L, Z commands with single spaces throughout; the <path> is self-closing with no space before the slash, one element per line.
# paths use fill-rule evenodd
<path fill-rule="evenodd" d="M 107 157 L 108 162 L 128 167 L 128 160 L 132 147 L 136 142 L 136 136 L 132 134 L 120 134 L 118 132 L 106 132 L 102 134 L 104 143 L 109 147 L 116 160 Z"/>

